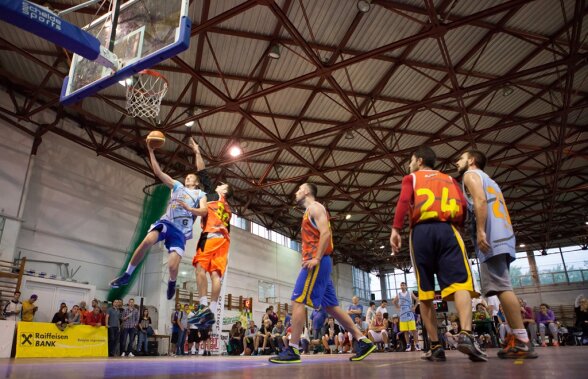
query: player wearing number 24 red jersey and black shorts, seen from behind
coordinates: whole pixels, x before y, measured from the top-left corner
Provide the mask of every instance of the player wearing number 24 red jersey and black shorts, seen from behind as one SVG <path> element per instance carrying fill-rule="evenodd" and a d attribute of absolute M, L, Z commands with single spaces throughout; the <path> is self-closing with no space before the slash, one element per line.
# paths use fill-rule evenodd
<path fill-rule="evenodd" d="M 464 243 L 456 226 L 463 225 L 466 200 L 459 184 L 450 176 L 433 170 L 435 152 L 422 146 L 410 159 L 410 174 L 402 179 L 402 189 L 390 236 L 394 253 L 401 247 L 400 230 L 410 219 L 410 254 L 419 288 L 421 317 L 431 338 L 431 350 L 423 359 L 445 361 L 445 351 L 437 335 L 433 307 L 435 275 L 445 300 L 454 300 L 462 332 L 458 350 L 472 361 L 487 361 L 471 335 L 471 297 L 477 297 Z"/>

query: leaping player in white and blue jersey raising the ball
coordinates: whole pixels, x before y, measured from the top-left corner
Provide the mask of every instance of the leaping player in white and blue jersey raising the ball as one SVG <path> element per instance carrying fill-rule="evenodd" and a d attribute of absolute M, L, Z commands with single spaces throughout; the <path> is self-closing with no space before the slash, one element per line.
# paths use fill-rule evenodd
<path fill-rule="evenodd" d="M 206 194 L 197 188 L 198 177 L 195 174 L 186 176 L 184 184 L 172 179 L 161 171 L 159 163 L 155 158 L 153 149 L 147 144 L 149 158 L 155 176 L 168 186 L 171 192 L 165 214 L 149 229 L 143 242 L 133 253 L 127 270 L 124 274 L 110 282 L 112 288 L 119 288 L 129 284 L 131 275 L 139 265 L 147 250 L 159 241 L 164 241 L 169 253 L 168 268 L 169 281 L 167 285 L 167 298 L 171 300 L 176 292 L 176 278 L 180 261 L 184 256 L 186 240 L 192 238 L 192 228 L 196 216 L 206 216 L 207 202 Z"/>

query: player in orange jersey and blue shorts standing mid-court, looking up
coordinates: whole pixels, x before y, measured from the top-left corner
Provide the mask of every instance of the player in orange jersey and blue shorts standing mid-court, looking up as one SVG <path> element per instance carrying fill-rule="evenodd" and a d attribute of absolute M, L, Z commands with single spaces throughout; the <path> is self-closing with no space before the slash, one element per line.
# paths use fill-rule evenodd
<path fill-rule="evenodd" d="M 292 333 L 290 346 L 278 356 L 270 358 L 272 363 L 300 362 L 300 335 L 304 327 L 304 306 L 312 308 L 325 307 L 339 323 L 353 334 L 358 341 L 355 356 L 351 361 L 361 361 L 376 346 L 353 324 L 347 313 L 337 301 L 335 287 L 331 280 L 333 263 L 333 239 L 329 216 L 325 207 L 315 200 L 317 188 L 312 183 L 305 183 L 296 192 L 296 202 L 306 208 L 302 218 L 302 269 L 292 293 Z"/>

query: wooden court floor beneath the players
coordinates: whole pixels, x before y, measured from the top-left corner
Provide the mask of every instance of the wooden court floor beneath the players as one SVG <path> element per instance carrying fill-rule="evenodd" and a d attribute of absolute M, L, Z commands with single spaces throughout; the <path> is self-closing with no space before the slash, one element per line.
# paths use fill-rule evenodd
<path fill-rule="evenodd" d="M 488 350 L 486 363 L 470 362 L 457 351 L 447 362 L 421 360 L 419 352 L 374 353 L 361 362 L 349 354 L 303 356 L 303 363 L 275 365 L 261 357 L 134 357 L 95 359 L 0 359 L 0 378 L 550 378 L 588 377 L 588 347 L 538 348 L 530 361 L 501 360 Z"/>

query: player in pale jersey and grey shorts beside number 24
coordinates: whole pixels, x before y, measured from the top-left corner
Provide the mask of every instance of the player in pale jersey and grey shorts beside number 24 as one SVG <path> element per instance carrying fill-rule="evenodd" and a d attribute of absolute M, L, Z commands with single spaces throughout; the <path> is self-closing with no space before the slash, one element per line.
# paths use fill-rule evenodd
<path fill-rule="evenodd" d="M 515 235 L 500 187 L 483 170 L 486 156 L 468 150 L 455 163 L 463 174 L 468 213 L 473 216 L 472 240 L 480 260 L 483 295 L 498 295 L 512 329 L 500 358 L 537 358 L 525 330 L 520 305 L 510 282 L 510 263 L 515 260 Z"/>

